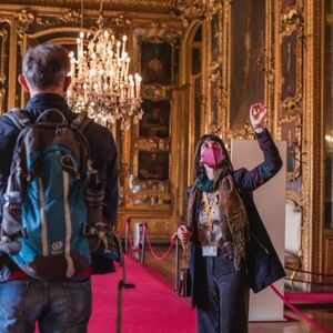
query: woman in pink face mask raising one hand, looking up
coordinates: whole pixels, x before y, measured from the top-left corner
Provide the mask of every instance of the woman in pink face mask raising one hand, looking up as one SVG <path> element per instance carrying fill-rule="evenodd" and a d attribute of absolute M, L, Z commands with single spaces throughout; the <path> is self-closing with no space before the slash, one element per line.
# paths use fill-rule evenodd
<path fill-rule="evenodd" d="M 192 305 L 200 333 L 246 333 L 250 287 L 258 292 L 285 275 L 252 200 L 252 191 L 282 167 L 263 127 L 265 117 L 263 104 L 251 105 L 264 161 L 250 171 L 233 170 L 223 141 L 214 134 L 203 135 L 195 148 L 195 181 L 178 236 L 183 244 L 191 241 Z"/>

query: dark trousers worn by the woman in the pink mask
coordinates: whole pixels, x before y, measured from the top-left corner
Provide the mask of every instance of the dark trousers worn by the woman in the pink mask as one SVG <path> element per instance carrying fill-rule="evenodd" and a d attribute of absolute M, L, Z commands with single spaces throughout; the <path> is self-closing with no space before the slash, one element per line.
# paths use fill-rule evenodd
<path fill-rule="evenodd" d="M 199 333 L 248 333 L 249 282 L 243 270 L 236 271 L 233 259 L 224 255 L 201 256 L 199 270 Z"/>

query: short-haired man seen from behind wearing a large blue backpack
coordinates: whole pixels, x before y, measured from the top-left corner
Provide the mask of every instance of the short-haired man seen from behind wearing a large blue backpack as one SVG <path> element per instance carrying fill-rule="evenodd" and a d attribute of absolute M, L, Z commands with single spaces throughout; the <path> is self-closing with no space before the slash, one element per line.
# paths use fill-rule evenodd
<path fill-rule="evenodd" d="M 32 333 L 37 322 L 41 333 L 87 332 L 89 240 L 115 222 L 117 148 L 109 130 L 69 109 L 69 71 L 61 46 L 29 49 L 19 82 L 30 100 L 0 117 L 0 333 Z"/>

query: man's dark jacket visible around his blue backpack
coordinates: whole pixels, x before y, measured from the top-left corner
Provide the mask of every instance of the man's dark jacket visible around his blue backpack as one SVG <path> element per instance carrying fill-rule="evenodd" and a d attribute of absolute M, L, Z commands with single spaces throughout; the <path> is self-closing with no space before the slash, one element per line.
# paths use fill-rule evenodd
<path fill-rule="evenodd" d="M 60 110 L 65 119 L 71 122 L 77 114 L 73 113 L 64 99 L 54 93 L 38 93 L 33 95 L 27 107 L 27 115 L 34 120 L 48 109 Z M 8 117 L 0 117 L 0 221 L 2 221 L 3 194 L 10 173 L 10 164 L 19 130 Z M 111 132 L 97 123 L 90 123 L 84 135 L 90 147 L 90 157 L 93 168 L 99 171 L 100 180 L 104 185 L 105 198 L 103 215 L 113 225 L 118 206 L 118 165 L 117 148 Z M 12 270 L 17 268 L 7 255 L 0 256 L 0 281 L 6 280 Z"/>

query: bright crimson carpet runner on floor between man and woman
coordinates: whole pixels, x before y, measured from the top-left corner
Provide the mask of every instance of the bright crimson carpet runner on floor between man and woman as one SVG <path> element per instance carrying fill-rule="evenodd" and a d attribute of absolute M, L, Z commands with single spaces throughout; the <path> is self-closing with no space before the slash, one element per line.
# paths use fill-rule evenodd
<path fill-rule="evenodd" d="M 123 290 L 122 333 L 194 333 L 195 313 L 188 299 L 178 297 L 171 286 L 163 284 L 145 268 L 125 258 L 128 283 Z M 121 269 L 92 279 L 92 316 L 89 333 L 114 333 L 117 285 Z"/>

